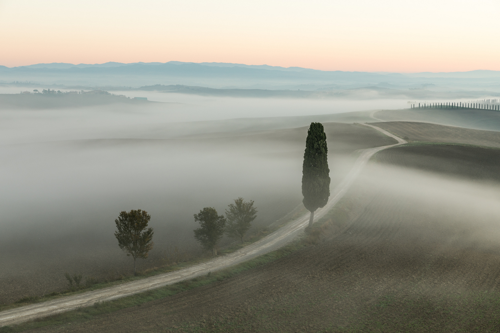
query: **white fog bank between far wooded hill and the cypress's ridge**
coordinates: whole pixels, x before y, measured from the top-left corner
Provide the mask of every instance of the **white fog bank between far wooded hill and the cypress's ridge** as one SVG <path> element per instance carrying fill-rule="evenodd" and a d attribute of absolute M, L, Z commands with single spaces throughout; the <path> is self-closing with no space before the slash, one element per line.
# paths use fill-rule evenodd
<path fill-rule="evenodd" d="M 202 121 L 338 114 L 347 111 L 403 107 L 402 100 L 305 100 L 275 98 L 206 98 L 196 95 L 140 94 L 172 103 L 115 104 L 60 109 L 0 109 L 0 143 L 24 143 L 95 138 L 171 138 L 213 131 L 261 130 L 290 127 L 280 121 L 234 128 L 200 124 Z M 43 96 L 40 96 L 43 98 Z M 135 95 L 131 95 L 135 97 Z M 178 104 L 181 103 L 181 104 Z M 305 126 L 310 119 L 291 127 Z M 182 122 L 183 124 L 180 124 Z M 270 123 L 273 123 L 272 125 Z M 352 121 L 350 121 L 352 122 Z M 253 122 L 255 123 L 255 122 Z"/>

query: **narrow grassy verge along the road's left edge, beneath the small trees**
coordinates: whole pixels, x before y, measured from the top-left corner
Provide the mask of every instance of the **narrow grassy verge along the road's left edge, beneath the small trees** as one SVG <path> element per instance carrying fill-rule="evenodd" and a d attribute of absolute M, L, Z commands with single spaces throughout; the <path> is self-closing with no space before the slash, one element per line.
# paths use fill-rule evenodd
<path fill-rule="evenodd" d="M 296 219 L 297 217 L 305 214 L 307 210 L 303 207 L 296 207 L 292 212 L 288 213 L 286 216 L 281 218 L 280 220 L 276 221 L 275 223 L 271 224 L 269 227 L 264 228 L 262 230 L 258 230 L 255 234 L 251 235 L 248 237 L 247 241 L 244 243 L 233 243 L 227 247 L 224 247 L 220 250 L 220 255 L 224 254 L 229 254 L 234 251 L 237 251 L 249 244 L 255 243 L 256 241 L 264 238 L 265 236 L 269 235 L 270 233 L 276 231 L 277 229 L 281 228 L 288 222 Z M 159 267 L 153 267 L 151 269 L 144 270 L 142 272 L 138 272 L 137 276 L 125 276 L 125 277 L 119 277 L 118 279 L 114 281 L 103 281 L 100 283 L 92 284 L 90 286 L 85 286 L 81 288 L 75 288 L 75 289 L 70 289 L 66 290 L 63 292 L 52 292 L 50 294 L 46 294 L 43 296 L 35 296 L 35 297 L 26 297 L 23 298 L 15 303 L 11 304 L 0 304 L 0 311 L 5 311 L 9 309 L 14 309 L 18 307 L 22 307 L 28 304 L 34 304 L 34 303 L 42 303 L 50 300 L 54 300 L 60 297 L 66 297 L 66 296 L 72 296 L 72 295 L 77 295 L 77 294 L 82 294 L 88 291 L 93 291 L 93 290 L 98 290 L 98 289 L 104 289 L 116 285 L 120 285 L 126 282 L 131 282 L 139 279 L 144 279 L 147 277 L 159 275 L 159 274 L 164 274 L 168 272 L 173 272 L 173 271 L 178 271 L 180 269 L 190 267 L 199 263 L 202 263 L 204 261 L 208 261 L 212 259 L 212 257 L 201 257 L 201 258 L 195 258 L 193 260 L 183 262 L 183 263 L 177 263 L 174 265 L 165 265 L 165 266 L 159 266 Z"/>

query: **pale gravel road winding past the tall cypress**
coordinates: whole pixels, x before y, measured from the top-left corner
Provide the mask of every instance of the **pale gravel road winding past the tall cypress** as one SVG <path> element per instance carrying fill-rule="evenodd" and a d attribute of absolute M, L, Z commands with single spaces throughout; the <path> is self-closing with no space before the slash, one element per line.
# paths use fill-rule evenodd
<path fill-rule="evenodd" d="M 318 209 L 314 217 L 321 218 L 326 214 L 347 192 L 352 182 L 368 162 L 369 158 L 376 152 L 406 143 L 406 141 L 388 133 L 387 131 L 372 126 L 362 124 L 376 129 L 377 131 L 390 136 L 397 140 L 398 143 L 388 146 L 381 146 L 369 149 L 363 149 L 359 157 L 354 163 L 354 166 L 349 171 L 344 180 L 332 191 L 328 203 L 323 208 Z M 197 264 L 178 271 L 156 275 L 149 278 L 144 278 L 137 281 L 123 283 L 118 286 L 113 286 L 105 289 L 94 290 L 78 295 L 61 297 L 59 299 L 46 301 L 43 303 L 31 304 L 12 310 L 0 312 L 0 327 L 6 325 L 15 325 L 29 320 L 34 320 L 40 317 L 55 315 L 61 312 L 77 309 L 79 307 L 88 307 L 96 302 L 105 302 L 115 300 L 121 297 L 130 296 L 136 293 L 142 293 L 151 289 L 174 284 L 179 281 L 192 279 L 194 277 L 205 275 L 210 271 L 221 270 L 235 264 L 248 261 L 257 256 L 274 251 L 285 245 L 286 243 L 297 237 L 309 222 L 309 213 L 304 216 L 289 222 L 285 226 L 279 228 L 275 232 L 267 235 L 261 240 L 245 246 L 244 248 L 230 253 L 225 256 L 214 258 L 210 261 Z"/>

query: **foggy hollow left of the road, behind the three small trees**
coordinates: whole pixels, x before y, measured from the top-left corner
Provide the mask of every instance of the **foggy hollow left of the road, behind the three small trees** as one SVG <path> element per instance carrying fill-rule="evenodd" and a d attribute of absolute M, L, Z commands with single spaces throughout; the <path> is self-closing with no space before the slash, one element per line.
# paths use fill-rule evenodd
<path fill-rule="evenodd" d="M 113 236 L 122 210 L 151 215 L 154 260 L 170 247 L 198 248 L 193 214 L 203 207 L 223 214 L 239 196 L 254 200 L 251 232 L 282 218 L 301 203 L 307 128 L 282 132 L 0 146 L 0 302 L 63 289 L 65 271 L 129 274 Z M 335 184 L 352 159 L 332 153 L 330 163 Z"/>

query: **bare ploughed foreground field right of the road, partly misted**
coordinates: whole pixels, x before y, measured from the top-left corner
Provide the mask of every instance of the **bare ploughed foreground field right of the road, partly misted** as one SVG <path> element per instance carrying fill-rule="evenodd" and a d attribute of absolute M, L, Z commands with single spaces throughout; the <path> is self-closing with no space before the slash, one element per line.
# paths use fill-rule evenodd
<path fill-rule="evenodd" d="M 434 147 L 440 156 L 461 153 L 455 146 L 424 153 Z M 309 246 L 287 257 L 140 307 L 30 332 L 497 332 L 500 175 L 497 164 L 483 164 L 485 150 L 496 150 L 466 147 L 468 166 L 449 170 L 451 180 L 406 168 L 419 160 L 407 153 L 415 148 L 424 147 L 380 152 L 384 163 L 371 163 L 312 230 Z M 442 159 L 427 163 L 436 170 Z M 490 170 L 477 173 L 474 163 Z"/>

